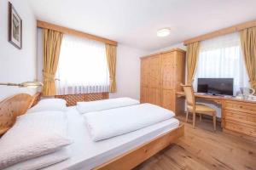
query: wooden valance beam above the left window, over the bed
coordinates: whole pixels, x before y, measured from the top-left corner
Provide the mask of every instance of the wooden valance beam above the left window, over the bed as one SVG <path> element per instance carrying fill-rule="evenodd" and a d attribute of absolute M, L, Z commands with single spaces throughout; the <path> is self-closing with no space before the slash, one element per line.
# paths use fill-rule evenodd
<path fill-rule="evenodd" d="M 84 37 L 84 38 L 92 39 L 92 40 L 95 40 L 95 41 L 98 41 L 98 42 L 108 43 L 108 44 L 115 45 L 115 46 L 117 46 L 117 44 L 118 44 L 118 42 L 115 42 L 113 40 L 109 40 L 109 39 L 104 38 L 104 37 L 97 37 L 97 36 L 85 33 L 83 31 L 73 30 L 73 29 L 70 29 L 70 28 L 67 28 L 67 27 L 64 27 L 64 26 L 57 26 L 57 25 L 50 24 L 48 22 L 44 22 L 44 21 L 41 21 L 41 20 L 37 20 L 37 26 L 38 26 L 38 28 L 47 28 L 47 29 L 54 30 L 54 31 L 60 31 L 60 32 L 63 32 L 65 34 L 70 34 L 70 35 L 78 36 L 78 37 Z"/>

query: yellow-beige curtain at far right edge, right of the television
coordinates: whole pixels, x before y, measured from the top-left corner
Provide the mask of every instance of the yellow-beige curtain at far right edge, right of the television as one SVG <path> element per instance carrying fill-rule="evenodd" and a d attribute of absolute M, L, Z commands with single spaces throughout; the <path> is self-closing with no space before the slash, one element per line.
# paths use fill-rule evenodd
<path fill-rule="evenodd" d="M 240 32 L 241 48 L 251 87 L 256 90 L 256 27 Z"/>

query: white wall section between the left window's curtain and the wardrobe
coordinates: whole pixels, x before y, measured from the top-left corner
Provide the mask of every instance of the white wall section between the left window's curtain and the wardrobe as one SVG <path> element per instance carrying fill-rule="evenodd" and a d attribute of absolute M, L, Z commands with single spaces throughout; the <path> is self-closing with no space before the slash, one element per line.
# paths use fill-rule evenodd
<path fill-rule="evenodd" d="M 110 98 L 131 97 L 140 99 L 140 57 L 148 52 L 119 44 L 117 48 L 117 93 Z"/>

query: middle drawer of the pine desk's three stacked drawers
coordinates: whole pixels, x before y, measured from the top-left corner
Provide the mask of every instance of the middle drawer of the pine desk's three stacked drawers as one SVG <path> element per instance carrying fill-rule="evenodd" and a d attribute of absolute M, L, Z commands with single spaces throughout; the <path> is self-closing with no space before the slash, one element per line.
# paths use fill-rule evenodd
<path fill-rule="evenodd" d="M 241 111 L 223 110 L 225 120 L 233 120 L 244 124 L 256 126 L 256 114 L 245 113 Z"/>

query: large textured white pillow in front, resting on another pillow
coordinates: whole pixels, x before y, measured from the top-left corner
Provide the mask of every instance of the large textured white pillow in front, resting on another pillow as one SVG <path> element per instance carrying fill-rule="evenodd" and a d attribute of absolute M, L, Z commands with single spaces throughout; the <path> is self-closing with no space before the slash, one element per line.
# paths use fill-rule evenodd
<path fill-rule="evenodd" d="M 67 116 L 61 111 L 42 111 L 19 116 L 0 139 L 0 169 L 43 156 L 71 144 Z"/>

